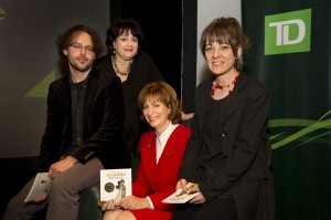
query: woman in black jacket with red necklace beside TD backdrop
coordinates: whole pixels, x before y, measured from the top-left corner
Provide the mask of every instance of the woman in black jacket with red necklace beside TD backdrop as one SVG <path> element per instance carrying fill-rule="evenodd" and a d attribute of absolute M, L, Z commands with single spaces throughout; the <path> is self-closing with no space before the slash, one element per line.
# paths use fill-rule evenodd
<path fill-rule="evenodd" d="M 195 91 L 192 135 L 177 188 L 200 193 L 173 220 L 274 220 L 275 192 L 266 134 L 270 93 L 243 71 L 248 48 L 238 21 L 220 18 L 200 48 L 213 76 Z M 188 182 L 196 184 L 186 189 Z"/>

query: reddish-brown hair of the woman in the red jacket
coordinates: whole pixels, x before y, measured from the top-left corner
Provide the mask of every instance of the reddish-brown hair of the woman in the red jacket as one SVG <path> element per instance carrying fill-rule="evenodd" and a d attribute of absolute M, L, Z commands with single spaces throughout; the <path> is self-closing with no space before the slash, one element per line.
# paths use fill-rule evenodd
<path fill-rule="evenodd" d="M 168 83 L 152 82 L 143 86 L 138 96 L 138 107 L 142 112 L 143 105 L 148 98 L 152 98 L 163 103 L 170 108 L 168 115 L 169 121 L 178 124 L 182 119 L 182 105 L 178 99 L 177 93 Z M 145 117 L 141 117 L 145 119 Z"/>

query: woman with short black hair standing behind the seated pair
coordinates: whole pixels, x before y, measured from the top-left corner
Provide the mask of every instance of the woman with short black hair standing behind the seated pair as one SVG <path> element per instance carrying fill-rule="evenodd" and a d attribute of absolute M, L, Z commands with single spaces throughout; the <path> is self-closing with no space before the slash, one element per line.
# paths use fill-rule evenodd
<path fill-rule="evenodd" d="M 126 107 L 124 140 L 130 153 L 136 150 L 140 135 L 146 130 L 139 117 L 138 94 L 146 84 L 164 81 L 152 59 L 140 49 L 142 40 L 142 30 L 135 20 L 115 20 L 107 31 L 109 53 L 95 64 L 98 71 L 117 74 L 122 82 Z"/>

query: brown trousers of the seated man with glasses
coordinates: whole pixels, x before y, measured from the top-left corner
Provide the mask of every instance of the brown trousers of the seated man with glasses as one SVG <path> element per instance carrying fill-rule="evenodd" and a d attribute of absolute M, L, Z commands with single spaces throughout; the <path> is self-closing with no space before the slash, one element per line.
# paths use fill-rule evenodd
<path fill-rule="evenodd" d="M 33 179 L 13 197 L 7 206 L 2 220 L 29 220 L 34 212 L 47 205 L 46 220 L 77 219 L 79 208 L 79 192 L 100 179 L 100 169 L 104 169 L 99 159 L 94 158 L 85 165 L 77 163 L 63 171 L 52 181 L 47 200 L 41 203 L 24 203 Z M 95 205 L 96 206 L 96 205 Z"/>

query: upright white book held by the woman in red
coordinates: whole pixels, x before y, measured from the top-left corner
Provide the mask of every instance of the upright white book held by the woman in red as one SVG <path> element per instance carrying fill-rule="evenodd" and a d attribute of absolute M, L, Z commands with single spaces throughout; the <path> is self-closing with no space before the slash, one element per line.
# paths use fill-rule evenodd
<path fill-rule="evenodd" d="M 100 170 L 100 201 L 109 201 L 132 195 L 131 169 Z"/>

